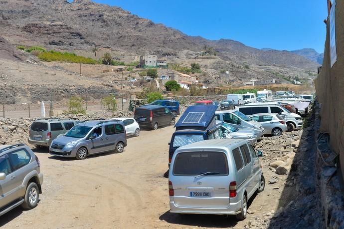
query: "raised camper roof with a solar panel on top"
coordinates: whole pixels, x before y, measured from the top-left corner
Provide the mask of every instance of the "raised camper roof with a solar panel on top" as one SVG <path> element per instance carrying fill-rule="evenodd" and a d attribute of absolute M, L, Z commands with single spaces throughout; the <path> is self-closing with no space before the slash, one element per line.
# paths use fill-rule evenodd
<path fill-rule="evenodd" d="M 189 106 L 175 124 L 176 130 L 196 129 L 206 130 L 216 125 L 215 105 Z"/>

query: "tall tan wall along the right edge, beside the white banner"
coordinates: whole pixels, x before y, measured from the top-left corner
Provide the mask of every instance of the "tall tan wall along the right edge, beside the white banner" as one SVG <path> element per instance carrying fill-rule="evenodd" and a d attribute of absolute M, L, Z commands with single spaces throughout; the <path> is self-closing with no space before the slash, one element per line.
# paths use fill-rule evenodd
<path fill-rule="evenodd" d="M 330 134 L 332 150 L 340 155 L 344 174 L 344 1 L 336 0 L 336 4 L 337 62 L 331 67 L 328 17 L 323 67 L 314 83 L 321 104 L 320 132 Z"/>

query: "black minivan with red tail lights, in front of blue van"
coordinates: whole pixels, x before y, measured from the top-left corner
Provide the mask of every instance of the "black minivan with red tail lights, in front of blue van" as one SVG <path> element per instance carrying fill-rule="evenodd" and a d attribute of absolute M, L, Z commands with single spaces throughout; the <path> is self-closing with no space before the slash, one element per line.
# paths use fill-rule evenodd
<path fill-rule="evenodd" d="M 157 130 L 160 126 L 175 124 L 175 116 L 164 106 L 146 105 L 135 109 L 134 118 L 140 127 Z"/>

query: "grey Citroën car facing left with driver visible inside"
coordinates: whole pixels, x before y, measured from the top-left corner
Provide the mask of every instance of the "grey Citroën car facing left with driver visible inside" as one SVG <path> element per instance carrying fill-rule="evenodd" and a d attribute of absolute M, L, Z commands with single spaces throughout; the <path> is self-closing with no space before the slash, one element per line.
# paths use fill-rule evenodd
<path fill-rule="evenodd" d="M 75 125 L 66 134 L 51 142 L 49 152 L 59 157 L 78 160 L 89 155 L 116 151 L 127 146 L 124 124 L 119 120 L 92 120 Z"/>

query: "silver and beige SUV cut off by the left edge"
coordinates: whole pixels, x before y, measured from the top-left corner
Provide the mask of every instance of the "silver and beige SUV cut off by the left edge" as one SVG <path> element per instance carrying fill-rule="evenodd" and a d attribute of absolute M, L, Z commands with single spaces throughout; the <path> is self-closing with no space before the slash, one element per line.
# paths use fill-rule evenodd
<path fill-rule="evenodd" d="M 36 207 L 42 183 L 38 157 L 28 146 L 0 146 L 0 216 L 19 205 Z"/>

